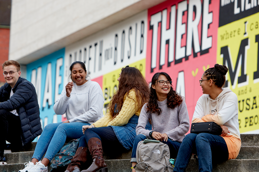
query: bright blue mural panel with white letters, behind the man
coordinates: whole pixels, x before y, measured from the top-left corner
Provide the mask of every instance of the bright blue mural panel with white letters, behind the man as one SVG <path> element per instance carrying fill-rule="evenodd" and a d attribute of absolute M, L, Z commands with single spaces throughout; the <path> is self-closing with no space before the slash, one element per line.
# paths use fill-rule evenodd
<path fill-rule="evenodd" d="M 61 122 L 53 105 L 63 89 L 65 48 L 27 64 L 27 80 L 33 83 L 40 107 L 43 128 L 50 123 Z"/>

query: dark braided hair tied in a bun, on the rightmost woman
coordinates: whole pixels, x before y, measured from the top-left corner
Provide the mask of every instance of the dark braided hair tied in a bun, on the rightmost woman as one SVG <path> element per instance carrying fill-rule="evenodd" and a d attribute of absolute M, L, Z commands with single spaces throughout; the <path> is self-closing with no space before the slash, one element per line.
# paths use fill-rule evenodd
<path fill-rule="evenodd" d="M 209 68 L 204 72 L 204 76 L 207 79 L 212 79 L 215 85 L 221 88 L 225 85 L 225 75 L 227 72 L 228 68 L 224 64 L 215 64 L 214 67 Z"/>

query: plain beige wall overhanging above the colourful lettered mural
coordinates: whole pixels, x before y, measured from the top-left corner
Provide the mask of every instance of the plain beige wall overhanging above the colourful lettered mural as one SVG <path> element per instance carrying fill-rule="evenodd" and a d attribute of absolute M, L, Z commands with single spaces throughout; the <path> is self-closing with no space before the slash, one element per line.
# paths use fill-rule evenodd
<path fill-rule="evenodd" d="M 12 0 L 9 59 L 33 62 L 165 0 Z"/>

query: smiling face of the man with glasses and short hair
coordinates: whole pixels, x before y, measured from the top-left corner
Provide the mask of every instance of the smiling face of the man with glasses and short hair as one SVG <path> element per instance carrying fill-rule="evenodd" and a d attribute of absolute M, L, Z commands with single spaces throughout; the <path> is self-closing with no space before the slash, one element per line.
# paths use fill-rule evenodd
<path fill-rule="evenodd" d="M 10 75 L 9 72 L 14 72 L 14 75 Z M 17 72 L 17 68 L 14 65 L 9 65 L 3 67 L 3 72 L 8 72 L 7 76 L 4 76 L 5 81 L 14 88 L 15 84 L 17 83 L 19 77 L 21 76 L 21 71 Z"/>

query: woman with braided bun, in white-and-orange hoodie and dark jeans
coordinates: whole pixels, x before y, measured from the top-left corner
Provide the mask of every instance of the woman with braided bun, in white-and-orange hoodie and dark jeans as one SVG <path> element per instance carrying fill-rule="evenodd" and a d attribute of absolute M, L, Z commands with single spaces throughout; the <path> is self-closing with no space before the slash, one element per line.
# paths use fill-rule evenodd
<path fill-rule="evenodd" d="M 197 101 L 192 123 L 215 122 L 222 128 L 220 136 L 208 133 L 188 134 L 182 141 L 174 171 L 185 171 L 192 154 L 197 154 L 199 171 L 212 171 L 212 162 L 235 159 L 241 148 L 237 95 L 222 88 L 228 68 L 215 64 L 200 80 L 203 95 Z"/>

